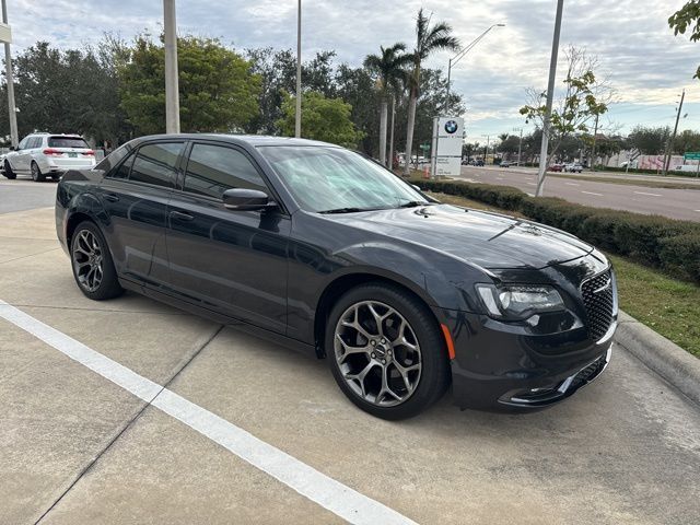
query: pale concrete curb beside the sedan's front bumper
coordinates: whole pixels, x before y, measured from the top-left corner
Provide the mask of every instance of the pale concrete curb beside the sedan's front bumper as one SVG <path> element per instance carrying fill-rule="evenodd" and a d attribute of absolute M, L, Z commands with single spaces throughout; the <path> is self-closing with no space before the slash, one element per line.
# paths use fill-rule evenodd
<path fill-rule="evenodd" d="M 615 342 L 700 405 L 700 359 L 625 312 L 618 320 Z"/>

